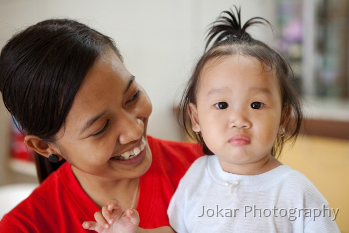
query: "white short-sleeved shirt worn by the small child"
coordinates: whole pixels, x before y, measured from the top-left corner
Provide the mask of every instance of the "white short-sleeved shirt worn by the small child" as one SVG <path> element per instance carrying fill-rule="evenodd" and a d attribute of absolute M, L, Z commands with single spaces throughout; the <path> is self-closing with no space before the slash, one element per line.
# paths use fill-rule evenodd
<path fill-rule="evenodd" d="M 178 233 L 339 233 L 333 213 L 337 208 L 289 166 L 236 175 L 215 155 L 190 166 L 167 211 Z"/>

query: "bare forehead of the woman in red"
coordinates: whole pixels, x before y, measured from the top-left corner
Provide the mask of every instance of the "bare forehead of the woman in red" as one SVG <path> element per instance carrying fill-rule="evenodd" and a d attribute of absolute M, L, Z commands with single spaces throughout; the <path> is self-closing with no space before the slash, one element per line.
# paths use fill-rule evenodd
<path fill-rule="evenodd" d="M 113 51 L 101 55 L 81 83 L 66 123 L 76 124 L 86 117 L 107 111 L 111 104 L 121 104 L 125 89 L 133 79 Z"/>

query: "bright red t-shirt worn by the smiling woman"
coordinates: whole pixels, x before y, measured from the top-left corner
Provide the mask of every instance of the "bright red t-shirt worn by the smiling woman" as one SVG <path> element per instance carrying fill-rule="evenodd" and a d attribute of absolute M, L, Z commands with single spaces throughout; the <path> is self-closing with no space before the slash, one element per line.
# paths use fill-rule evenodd
<path fill-rule="evenodd" d="M 203 155 L 197 144 L 165 141 L 148 136 L 153 154 L 149 170 L 141 177 L 136 209 L 140 227 L 169 226 L 166 214 L 172 195 L 191 163 Z M 99 211 L 64 163 L 32 194 L 0 221 L 0 232 L 91 232 L 83 221 L 94 221 Z"/>

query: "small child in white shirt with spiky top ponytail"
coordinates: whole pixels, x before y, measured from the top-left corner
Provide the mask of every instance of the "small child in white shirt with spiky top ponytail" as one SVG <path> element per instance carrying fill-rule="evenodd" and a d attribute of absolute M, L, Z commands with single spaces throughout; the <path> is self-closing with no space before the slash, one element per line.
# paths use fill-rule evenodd
<path fill-rule="evenodd" d="M 182 125 L 208 155 L 179 183 L 167 212 L 171 227 L 178 233 L 339 232 L 337 213 L 317 188 L 276 159 L 284 143 L 297 137 L 300 100 L 286 60 L 246 33 L 251 25 L 270 23 L 254 17 L 241 25 L 235 9 L 210 28 L 209 49 L 180 104 Z M 112 224 L 112 209 L 118 208 L 111 201 L 96 220 Z M 137 212 L 125 213 L 137 225 Z"/>

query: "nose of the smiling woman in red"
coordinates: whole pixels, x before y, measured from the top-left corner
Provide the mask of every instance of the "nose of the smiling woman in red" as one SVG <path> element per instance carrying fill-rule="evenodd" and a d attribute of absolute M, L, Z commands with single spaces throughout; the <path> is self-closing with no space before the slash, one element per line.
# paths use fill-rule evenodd
<path fill-rule="evenodd" d="M 120 121 L 120 130 L 118 141 L 120 144 L 127 144 L 143 136 L 144 123 L 137 117 L 124 116 Z"/>

